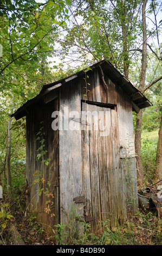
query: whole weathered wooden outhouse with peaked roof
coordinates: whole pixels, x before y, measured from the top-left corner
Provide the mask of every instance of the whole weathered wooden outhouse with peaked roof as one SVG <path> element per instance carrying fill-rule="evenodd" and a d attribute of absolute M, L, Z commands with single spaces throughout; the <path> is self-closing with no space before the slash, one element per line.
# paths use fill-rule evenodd
<path fill-rule="evenodd" d="M 16 120 L 26 116 L 27 206 L 39 221 L 55 229 L 75 209 L 99 233 L 103 221 L 116 225 L 134 214 L 132 111 L 151 105 L 102 60 L 44 85 L 12 114 Z"/>

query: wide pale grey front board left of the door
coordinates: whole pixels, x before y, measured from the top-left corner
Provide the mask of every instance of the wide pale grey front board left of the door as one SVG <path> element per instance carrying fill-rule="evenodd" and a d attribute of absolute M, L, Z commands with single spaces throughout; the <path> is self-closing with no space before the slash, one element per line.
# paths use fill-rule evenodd
<path fill-rule="evenodd" d="M 60 221 L 68 223 L 70 206 L 77 207 L 76 213 L 83 215 L 83 205 L 73 205 L 73 198 L 82 196 L 82 147 L 80 123 L 69 118 L 69 113 L 77 111 L 81 115 L 80 85 L 69 86 L 60 90 L 60 112 L 63 117 L 64 130 L 59 131 L 59 165 L 60 165 Z M 73 87 L 73 89 L 72 89 Z M 75 115 L 75 114 L 74 114 Z M 78 130 L 70 130 L 77 127 Z M 66 128 L 66 130 L 65 130 Z"/>

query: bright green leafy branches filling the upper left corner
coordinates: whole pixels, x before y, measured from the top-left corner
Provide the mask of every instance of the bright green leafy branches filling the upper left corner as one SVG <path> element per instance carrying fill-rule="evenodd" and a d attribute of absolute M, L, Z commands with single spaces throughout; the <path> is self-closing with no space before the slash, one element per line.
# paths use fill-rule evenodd
<path fill-rule="evenodd" d="M 0 5 L 0 93 L 14 94 L 17 106 L 51 82 L 47 58 L 56 57 L 55 40 L 60 28 L 67 26 L 68 4 L 64 0 L 8 0 Z"/>

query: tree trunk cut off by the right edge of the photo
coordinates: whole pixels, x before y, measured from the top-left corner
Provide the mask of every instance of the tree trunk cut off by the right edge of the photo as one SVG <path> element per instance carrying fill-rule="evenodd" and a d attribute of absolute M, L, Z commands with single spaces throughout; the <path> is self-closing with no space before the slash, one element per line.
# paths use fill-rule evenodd
<path fill-rule="evenodd" d="M 162 116 L 161 116 L 160 129 L 159 129 L 157 157 L 155 162 L 155 173 L 154 173 L 155 183 L 160 180 L 162 180 Z M 160 181 L 158 185 L 162 185 L 162 181 Z"/>

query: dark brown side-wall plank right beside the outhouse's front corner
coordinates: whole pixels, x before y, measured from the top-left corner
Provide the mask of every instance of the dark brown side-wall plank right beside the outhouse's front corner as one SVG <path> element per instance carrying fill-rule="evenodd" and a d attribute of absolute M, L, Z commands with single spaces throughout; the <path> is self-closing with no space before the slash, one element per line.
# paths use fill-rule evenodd
<path fill-rule="evenodd" d="M 53 100 L 46 105 L 46 159 L 51 159 L 49 165 L 44 164 L 44 176 L 46 177 L 46 183 L 44 184 L 44 190 L 48 188 L 49 197 L 44 196 L 44 202 L 51 200 L 53 204 L 50 205 L 50 212 L 46 214 L 46 222 L 51 228 L 54 229 L 54 225 L 59 223 L 60 209 L 59 209 L 59 131 L 51 128 L 53 118 L 51 114 L 53 111 L 59 111 L 59 101 Z"/>

